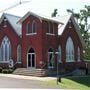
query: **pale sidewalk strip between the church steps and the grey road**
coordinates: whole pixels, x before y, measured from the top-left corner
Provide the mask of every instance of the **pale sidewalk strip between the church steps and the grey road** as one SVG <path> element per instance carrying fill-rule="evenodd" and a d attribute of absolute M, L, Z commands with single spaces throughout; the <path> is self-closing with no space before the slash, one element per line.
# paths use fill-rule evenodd
<path fill-rule="evenodd" d="M 24 75 L 15 75 L 15 74 L 0 74 L 0 76 L 18 78 L 18 79 L 40 80 L 40 81 L 56 80 L 55 77 L 35 77 L 35 76 L 24 76 Z"/>

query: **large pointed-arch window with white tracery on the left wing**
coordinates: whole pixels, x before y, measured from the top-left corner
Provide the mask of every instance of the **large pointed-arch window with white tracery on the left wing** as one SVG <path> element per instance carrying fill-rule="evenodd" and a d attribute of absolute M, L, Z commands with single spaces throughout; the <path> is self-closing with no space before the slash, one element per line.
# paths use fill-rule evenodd
<path fill-rule="evenodd" d="M 11 58 L 11 43 L 8 37 L 4 37 L 1 44 L 1 60 L 8 61 Z"/>

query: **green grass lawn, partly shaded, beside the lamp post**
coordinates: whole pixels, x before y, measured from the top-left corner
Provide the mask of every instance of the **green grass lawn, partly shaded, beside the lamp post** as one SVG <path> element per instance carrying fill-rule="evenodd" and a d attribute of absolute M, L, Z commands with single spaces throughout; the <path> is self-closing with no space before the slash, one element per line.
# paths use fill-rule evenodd
<path fill-rule="evenodd" d="M 65 77 L 58 85 L 62 88 L 76 90 L 90 90 L 90 76 Z M 47 84 L 57 85 L 57 81 L 45 81 Z"/>

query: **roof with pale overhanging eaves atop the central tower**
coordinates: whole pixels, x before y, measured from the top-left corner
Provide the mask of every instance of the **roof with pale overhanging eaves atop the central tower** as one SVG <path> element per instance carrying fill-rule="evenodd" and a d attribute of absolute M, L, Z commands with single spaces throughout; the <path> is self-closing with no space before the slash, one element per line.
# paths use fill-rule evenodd
<path fill-rule="evenodd" d="M 52 17 L 47 17 L 47 16 L 44 16 L 44 15 L 40 15 L 40 14 L 36 14 L 36 13 L 30 12 L 30 11 L 27 14 L 25 14 L 17 23 L 22 23 L 30 15 L 33 15 L 33 16 L 39 18 L 40 21 L 48 20 L 48 21 L 52 21 L 52 22 L 55 22 L 55 23 L 58 23 L 58 24 L 63 24 L 61 21 L 58 21 L 58 20 L 56 20 L 56 19 L 54 19 Z"/>

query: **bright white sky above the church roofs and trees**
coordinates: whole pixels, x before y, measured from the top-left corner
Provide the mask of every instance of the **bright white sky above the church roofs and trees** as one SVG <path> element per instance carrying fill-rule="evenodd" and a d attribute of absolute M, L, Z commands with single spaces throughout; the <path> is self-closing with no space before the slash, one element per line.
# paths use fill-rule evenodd
<path fill-rule="evenodd" d="M 0 0 L 0 16 L 2 13 L 10 13 L 18 16 L 24 16 L 28 11 L 40 13 L 42 15 L 51 16 L 54 9 L 58 9 L 58 15 L 66 15 L 67 9 L 73 9 L 79 12 L 84 5 L 90 5 L 90 0 L 21 0 L 23 4 L 18 5 L 5 12 L 2 10 L 12 7 L 20 2 L 20 0 Z"/>

